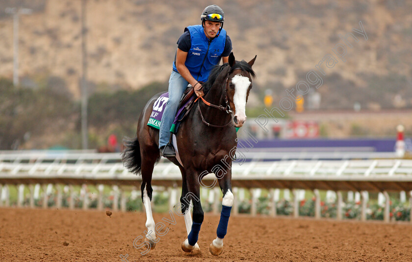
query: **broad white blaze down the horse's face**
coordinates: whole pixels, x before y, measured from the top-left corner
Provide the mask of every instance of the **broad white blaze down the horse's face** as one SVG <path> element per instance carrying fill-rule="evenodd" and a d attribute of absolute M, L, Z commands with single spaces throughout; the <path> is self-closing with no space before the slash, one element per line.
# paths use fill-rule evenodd
<path fill-rule="evenodd" d="M 234 84 L 233 103 L 236 108 L 236 114 L 234 116 L 237 117 L 238 123 L 243 123 L 246 121 L 246 95 L 250 81 L 248 77 L 236 74 L 232 78 L 232 83 Z"/>

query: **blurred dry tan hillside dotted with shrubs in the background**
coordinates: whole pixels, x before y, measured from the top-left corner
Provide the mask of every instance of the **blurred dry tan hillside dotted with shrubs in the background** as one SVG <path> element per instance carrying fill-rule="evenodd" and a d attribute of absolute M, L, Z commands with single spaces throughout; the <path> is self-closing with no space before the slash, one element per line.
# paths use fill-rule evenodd
<path fill-rule="evenodd" d="M 87 49 L 91 92 L 166 81 L 183 28 L 200 22 L 211 1 L 88 0 Z M 344 36 L 362 22 L 346 49 L 346 62 L 327 69 L 321 108 L 412 107 L 412 1 L 236 1 L 213 3 L 225 10 L 224 27 L 237 59 L 258 55 L 255 105 L 262 91 L 275 99 L 300 80 Z M 20 79 L 41 87 L 54 77 L 57 88 L 79 97 L 81 77 L 80 0 L 1 0 L 0 76 L 12 77 L 13 23 L 6 7 L 32 8 L 20 17 Z M 336 57 L 337 58 L 337 57 Z M 260 91 L 260 92 L 259 92 Z M 257 99 L 259 98 L 259 99 Z"/>

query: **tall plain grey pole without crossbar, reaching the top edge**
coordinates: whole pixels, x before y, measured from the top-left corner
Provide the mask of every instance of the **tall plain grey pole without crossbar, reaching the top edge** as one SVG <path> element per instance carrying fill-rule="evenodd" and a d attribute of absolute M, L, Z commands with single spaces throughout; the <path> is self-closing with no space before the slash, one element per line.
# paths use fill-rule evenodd
<path fill-rule="evenodd" d="M 81 142 L 82 148 L 88 148 L 87 132 L 87 46 L 86 46 L 86 0 L 81 0 Z"/>

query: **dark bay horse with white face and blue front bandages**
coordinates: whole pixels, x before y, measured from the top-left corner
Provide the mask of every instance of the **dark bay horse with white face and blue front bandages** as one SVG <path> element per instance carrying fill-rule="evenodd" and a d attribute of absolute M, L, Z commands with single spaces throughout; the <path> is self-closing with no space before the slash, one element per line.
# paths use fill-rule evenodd
<path fill-rule="evenodd" d="M 197 243 L 204 213 L 200 202 L 200 185 L 208 173 L 215 173 L 223 192 L 222 212 L 216 232 L 216 239 L 209 246 L 212 255 L 223 252 L 223 238 L 227 233 L 229 216 L 233 205 L 232 160 L 233 148 L 237 145 L 235 127 L 246 121 L 245 107 L 252 88 L 252 69 L 256 56 L 246 62 L 236 61 L 233 53 L 229 63 L 215 66 L 203 85 L 204 96 L 197 99 L 191 111 L 181 122 L 176 134 L 176 157 L 168 158 L 177 165 L 182 176 L 181 215 L 184 217 L 187 238 L 182 242 L 184 252 L 199 250 Z M 156 99 L 154 95 L 146 104 L 138 119 L 136 137 L 125 139 L 122 153 L 124 166 L 134 174 L 142 176 L 142 201 L 146 210 L 147 234 L 145 242 L 153 249 L 156 242 L 155 224 L 152 216 L 152 173 L 160 160 L 158 148 L 159 130 L 147 125 Z M 224 163 L 223 163 L 224 162 Z M 180 164 L 181 163 L 181 164 Z M 223 163 L 223 164 L 222 164 Z M 217 169 L 216 169 L 217 168 Z M 179 205 L 178 204 L 178 205 Z M 193 207 L 193 222 L 190 207 Z M 156 227 L 157 228 L 157 227 Z M 158 233 L 158 232 L 157 232 Z M 158 233 L 160 236 L 160 234 Z"/>

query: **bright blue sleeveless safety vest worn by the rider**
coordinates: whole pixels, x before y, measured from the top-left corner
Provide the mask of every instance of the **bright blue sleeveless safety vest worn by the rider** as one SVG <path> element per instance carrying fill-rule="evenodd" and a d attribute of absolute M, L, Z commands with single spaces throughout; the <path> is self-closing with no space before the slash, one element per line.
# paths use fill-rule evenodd
<path fill-rule="evenodd" d="M 191 47 L 187 52 L 184 65 L 197 81 L 205 82 L 212 68 L 219 64 L 226 43 L 226 30 L 222 29 L 218 37 L 211 42 L 206 37 L 201 24 L 184 28 L 189 30 Z M 173 62 L 173 70 L 178 71 Z"/>

